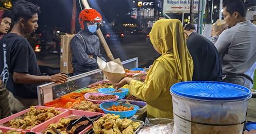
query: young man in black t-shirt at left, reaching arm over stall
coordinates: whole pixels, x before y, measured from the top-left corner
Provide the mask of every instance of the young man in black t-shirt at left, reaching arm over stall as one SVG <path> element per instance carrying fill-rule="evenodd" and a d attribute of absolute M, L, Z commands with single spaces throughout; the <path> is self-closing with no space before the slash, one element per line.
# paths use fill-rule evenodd
<path fill-rule="evenodd" d="M 26 34 L 37 30 L 39 12 L 38 6 L 26 1 L 17 1 L 12 7 L 14 27 L 0 41 L 0 59 L 6 59 L 4 64 L 8 68 L 8 79 L 4 82 L 12 93 L 9 103 L 13 113 L 29 108 L 30 105 L 37 105 L 38 84 L 64 83 L 68 79 L 65 74 L 40 76 L 35 52 L 24 38 Z M 3 70 L 3 66 L 0 66 L 0 70 Z"/>

